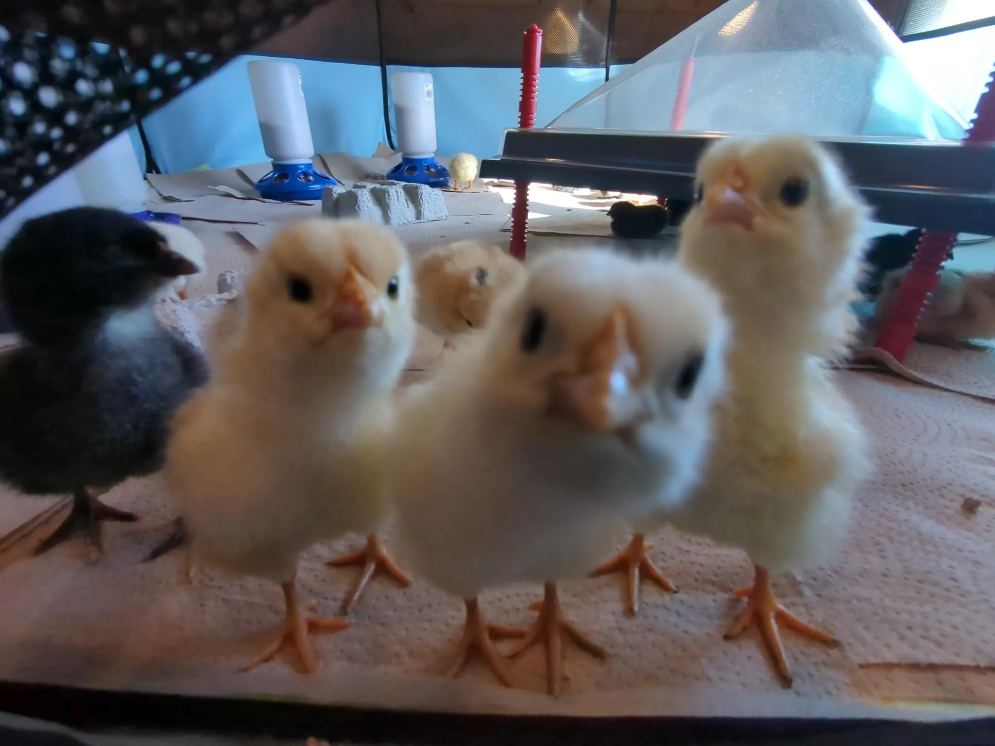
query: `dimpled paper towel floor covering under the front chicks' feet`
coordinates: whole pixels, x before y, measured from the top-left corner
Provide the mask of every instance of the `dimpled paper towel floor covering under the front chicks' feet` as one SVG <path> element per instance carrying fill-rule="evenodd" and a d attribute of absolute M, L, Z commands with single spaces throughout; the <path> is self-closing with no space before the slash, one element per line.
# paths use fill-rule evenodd
<path fill-rule="evenodd" d="M 233 295 L 177 304 L 166 315 L 185 334 L 196 334 Z M 409 378 L 438 359 L 437 341 L 421 338 Z M 622 616 L 617 576 L 563 587 L 567 614 L 612 654 L 598 662 L 568 649 L 560 700 L 543 693 L 538 651 L 512 666 L 520 690 L 503 689 L 476 664 L 461 680 L 442 677 L 455 652 L 462 605 L 419 582 L 408 589 L 373 582 L 347 631 L 315 639 L 322 658 L 316 675 L 298 674 L 283 660 L 239 673 L 276 632 L 280 590 L 212 570 L 182 586 L 176 556 L 140 564 L 173 518 L 157 475 L 106 496 L 141 520 L 106 526 L 99 565 L 86 565 L 82 545 L 71 542 L 0 573 L 6 609 L 0 676 L 532 713 L 829 715 L 896 698 L 995 704 L 993 405 L 883 373 L 840 376 L 872 433 L 879 468 L 860 495 L 838 561 L 776 578 L 783 604 L 843 641 L 830 649 L 786 633 L 791 692 L 780 689 L 751 634 L 721 639 L 734 612 L 728 592 L 749 579 L 745 556 L 670 530 L 653 537 L 654 560 L 681 592 L 645 586 L 635 620 Z M 982 501 L 973 516 L 960 509 L 966 497 Z M 20 516 L 29 504 L 31 498 L 5 493 L 0 517 Z M 52 503 L 38 509 L 45 504 Z M 301 594 L 317 602 L 318 612 L 334 613 L 353 577 L 353 570 L 327 568 L 324 560 L 359 541 L 346 537 L 303 555 Z M 538 588 L 501 589 L 482 604 L 492 621 L 523 624 L 538 596 Z"/>

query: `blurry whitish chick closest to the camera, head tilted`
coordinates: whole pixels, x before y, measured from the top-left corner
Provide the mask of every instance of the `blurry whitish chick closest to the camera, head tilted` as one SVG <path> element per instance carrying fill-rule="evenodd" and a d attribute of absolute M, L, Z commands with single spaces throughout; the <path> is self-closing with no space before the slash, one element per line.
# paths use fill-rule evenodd
<path fill-rule="evenodd" d="M 465 600 L 454 675 L 483 653 L 510 685 L 477 597 L 542 582 L 517 649 L 547 648 L 561 686 L 567 624 L 556 582 L 582 577 L 627 520 L 680 501 L 697 475 L 721 386 L 716 294 L 674 265 L 602 251 L 535 262 L 492 322 L 402 404 L 394 449 L 399 551 Z"/>

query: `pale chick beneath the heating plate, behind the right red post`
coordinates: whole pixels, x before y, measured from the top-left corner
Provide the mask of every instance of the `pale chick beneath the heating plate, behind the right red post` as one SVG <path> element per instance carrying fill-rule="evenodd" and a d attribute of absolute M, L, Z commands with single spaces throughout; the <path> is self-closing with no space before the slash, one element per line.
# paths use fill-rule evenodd
<path fill-rule="evenodd" d="M 879 321 L 891 314 L 905 272 L 896 270 L 882 283 Z M 919 317 L 915 338 L 953 349 L 988 349 L 967 340 L 995 338 L 995 273 L 943 270 Z"/>

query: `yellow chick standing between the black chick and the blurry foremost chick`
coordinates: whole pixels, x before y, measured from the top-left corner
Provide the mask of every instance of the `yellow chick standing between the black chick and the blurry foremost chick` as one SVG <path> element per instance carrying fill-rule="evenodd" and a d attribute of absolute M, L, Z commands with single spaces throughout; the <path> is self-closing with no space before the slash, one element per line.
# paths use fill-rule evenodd
<path fill-rule="evenodd" d="M 413 298 L 407 255 L 388 230 L 295 224 L 246 281 L 243 329 L 211 383 L 177 414 L 165 475 L 191 561 L 284 590 L 284 631 L 250 668 L 295 647 L 314 671 L 308 632 L 345 627 L 301 613 L 298 553 L 383 523 L 389 395 L 414 343 Z"/>

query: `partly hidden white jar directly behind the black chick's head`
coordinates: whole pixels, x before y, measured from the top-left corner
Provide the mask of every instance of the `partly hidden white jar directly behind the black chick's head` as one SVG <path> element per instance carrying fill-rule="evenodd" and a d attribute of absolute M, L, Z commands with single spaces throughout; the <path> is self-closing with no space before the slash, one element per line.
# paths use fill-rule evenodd
<path fill-rule="evenodd" d="M 145 175 L 126 129 L 100 145 L 73 172 L 85 205 L 126 213 L 145 209 Z"/>

